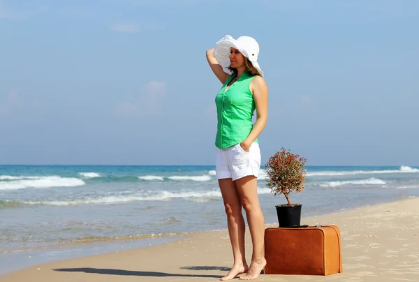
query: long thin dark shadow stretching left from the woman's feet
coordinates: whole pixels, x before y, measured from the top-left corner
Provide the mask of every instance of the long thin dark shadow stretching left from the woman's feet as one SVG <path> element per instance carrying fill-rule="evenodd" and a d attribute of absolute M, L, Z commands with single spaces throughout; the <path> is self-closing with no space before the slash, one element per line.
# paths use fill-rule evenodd
<path fill-rule="evenodd" d="M 211 270 L 219 269 L 212 268 L 205 269 L 205 267 L 198 267 L 196 270 Z M 221 267 L 220 267 L 221 268 Z M 182 269 L 189 269 L 187 267 L 182 267 Z M 193 268 L 192 268 L 193 269 Z M 204 277 L 204 278 L 221 278 L 223 276 L 219 275 L 200 275 L 200 274 L 172 274 L 166 272 L 136 272 L 132 270 L 123 270 L 123 269 L 107 269 L 107 268 L 89 268 L 89 267 L 79 267 L 79 268 L 57 268 L 52 269 L 56 272 L 84 272 L 84 273 L 96 273 L 96 274 L 108 274 L 108 275 L 124 275 L 124 276 L 146 276 L 146 277 Z"/>

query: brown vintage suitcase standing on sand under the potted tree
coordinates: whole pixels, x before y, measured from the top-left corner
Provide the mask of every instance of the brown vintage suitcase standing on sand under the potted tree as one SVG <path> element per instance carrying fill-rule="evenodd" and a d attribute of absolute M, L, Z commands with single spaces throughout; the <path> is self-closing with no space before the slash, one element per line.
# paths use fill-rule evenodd
<path fill-rule="evenodd" d="M 266 228 L 265 274 L 330 275 L 343 271 L 337 225 Z"/>

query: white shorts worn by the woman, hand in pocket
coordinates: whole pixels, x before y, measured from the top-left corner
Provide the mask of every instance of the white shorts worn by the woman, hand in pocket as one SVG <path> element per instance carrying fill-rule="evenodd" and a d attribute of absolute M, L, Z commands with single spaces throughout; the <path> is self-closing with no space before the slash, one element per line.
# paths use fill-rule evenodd
<path fill-rule="evenodd" d="M 216 147 L 216 179 L 231 178 L 233 181 L 254 175 L 258 177 L 260 169 L 259 144 L 253 142 L 249 152 L 244 151 L 240 143 L 226 149 Z"/>

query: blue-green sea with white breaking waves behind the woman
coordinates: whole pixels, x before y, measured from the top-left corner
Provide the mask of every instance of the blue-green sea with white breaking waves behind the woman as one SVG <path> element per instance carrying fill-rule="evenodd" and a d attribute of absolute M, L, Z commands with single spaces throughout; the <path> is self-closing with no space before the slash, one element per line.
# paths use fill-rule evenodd
<path fill-rule="evenodd" d="M 0 253 L 227 228 L 214 166 L 0 165 Z M 419 168 L 307 166 L 302 217 L 419 196 Z M 265 223 L 286 203 L 266 186 Z"/>

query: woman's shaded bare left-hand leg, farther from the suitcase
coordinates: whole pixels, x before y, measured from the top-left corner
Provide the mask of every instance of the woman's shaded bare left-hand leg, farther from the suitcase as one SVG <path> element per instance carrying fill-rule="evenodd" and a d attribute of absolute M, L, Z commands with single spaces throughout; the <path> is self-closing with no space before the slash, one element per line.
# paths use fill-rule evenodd
<path fill-rule="evenodd" d="M 226 208 L 228 234 L 230 235 L 234 258 L 233 267 L 221 280 L 230 280 L 249 269 L 244 254 L 244 231 L 246 226 L 244 225 L 240 196 L 232 179 L 219 179 L 219 186 Z"/>

